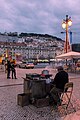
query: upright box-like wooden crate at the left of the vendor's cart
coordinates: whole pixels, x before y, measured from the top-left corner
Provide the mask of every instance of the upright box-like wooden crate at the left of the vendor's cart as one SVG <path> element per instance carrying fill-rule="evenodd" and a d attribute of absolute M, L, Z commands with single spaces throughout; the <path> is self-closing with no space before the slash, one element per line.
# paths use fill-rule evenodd
<path fill-rule="evenodd" d="M 17 104 L 20 106 L 29 105 L 30 93 L 22 93 L 17 95 Z"/>

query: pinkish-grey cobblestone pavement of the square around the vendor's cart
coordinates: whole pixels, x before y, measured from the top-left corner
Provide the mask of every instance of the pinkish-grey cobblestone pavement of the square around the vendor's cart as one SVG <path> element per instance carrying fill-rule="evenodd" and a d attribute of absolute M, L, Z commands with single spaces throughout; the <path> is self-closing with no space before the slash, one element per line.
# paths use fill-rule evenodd
<path fill-rule="evenodd" d="M 6 79 L 6 73 L 0 72 L 0 120 L 80 120 L 80 75 L 69 73 L 70 81 L 74 83 L 72 103 L 76 112 L 68 108 L 56 111 L 53 107 L 36 108 L 33 105 L 21 107 L 17 105 L 17 94 L 23 93 L 23 78 L 26 73 L 41 73 L 43 69 L 16 69 L 18 79 Z M 49 71 L 56 74 L 56 70 Z"/>

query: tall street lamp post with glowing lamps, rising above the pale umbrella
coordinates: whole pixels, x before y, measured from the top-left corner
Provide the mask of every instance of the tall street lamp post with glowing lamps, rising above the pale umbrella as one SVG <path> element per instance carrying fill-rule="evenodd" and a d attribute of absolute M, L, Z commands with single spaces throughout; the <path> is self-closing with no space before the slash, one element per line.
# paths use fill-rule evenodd
<path fill-rule="evenodd" d="M 63 20 L 62 22 L 62 28 L 64 28 L 66 30 L 66 53 L 68 52 L 68 27 L 72 25 L 72 20 L 71 17 L 68 17 L 68 15 L 66 15 L 66 19 Z"/>

